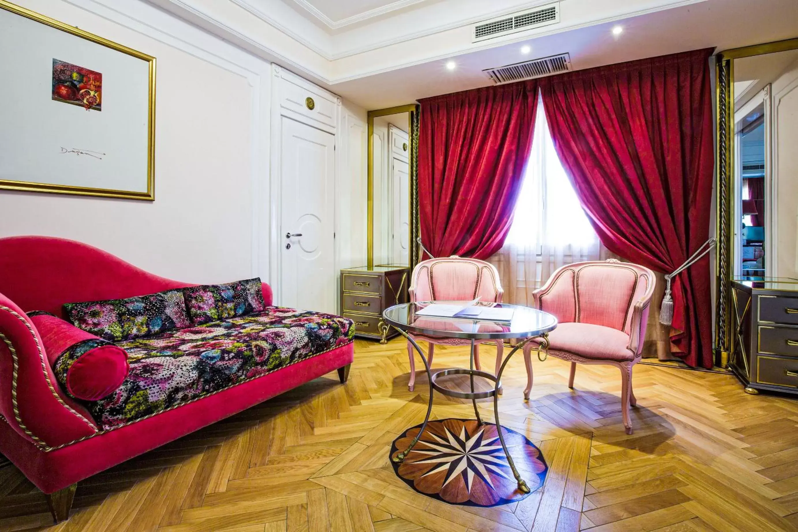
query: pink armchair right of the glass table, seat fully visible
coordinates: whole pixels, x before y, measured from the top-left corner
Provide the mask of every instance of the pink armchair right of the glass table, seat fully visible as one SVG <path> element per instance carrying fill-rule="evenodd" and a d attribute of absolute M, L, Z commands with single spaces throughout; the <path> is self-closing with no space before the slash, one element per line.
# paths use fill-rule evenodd
<path fill-rule="evenodd" d="M 632 366 L 640 360 L 646 337 L 654 273 L 643 266 L 610 259 L 577 262 L 556 270 L 545 286 L 535 290 L 535 307 L 554 314 L 557 329 L 549 333 L 548 353 L 571 362 L 568 387 L 574 387 L 576 363 L 609 364 L 621 370 L 621 410 L 626 433 L 632 433 L 629 406 L 637 404 L 632 392 Z M 531 344 L 532 342 L 530 342 Z M 532 387 L 527 344 L 528 399 Z"/>

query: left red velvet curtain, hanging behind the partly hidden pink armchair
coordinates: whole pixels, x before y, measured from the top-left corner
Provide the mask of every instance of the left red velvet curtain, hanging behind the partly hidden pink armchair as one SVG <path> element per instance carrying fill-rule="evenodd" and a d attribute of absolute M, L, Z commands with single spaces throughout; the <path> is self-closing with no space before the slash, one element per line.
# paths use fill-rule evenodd
<path fill-rule="evenodd" d="M 419 102 L 421 242 L 435 257 L 488 258 L 510 231 L 531 149 L 538 84 Z"/>

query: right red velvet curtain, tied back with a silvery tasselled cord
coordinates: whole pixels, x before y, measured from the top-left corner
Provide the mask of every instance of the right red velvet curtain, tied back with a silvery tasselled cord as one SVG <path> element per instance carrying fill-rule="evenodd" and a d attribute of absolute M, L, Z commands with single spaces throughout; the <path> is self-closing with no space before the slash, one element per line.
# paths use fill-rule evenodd
<path fill-rule="evenodd" d="M 563 167 L 602 243 L 670 273 L 709 238 L 713 187 L 711 49 L 545 78 Z M 709 258 L 672 282 L 671 350 L 710 368 Z"/>

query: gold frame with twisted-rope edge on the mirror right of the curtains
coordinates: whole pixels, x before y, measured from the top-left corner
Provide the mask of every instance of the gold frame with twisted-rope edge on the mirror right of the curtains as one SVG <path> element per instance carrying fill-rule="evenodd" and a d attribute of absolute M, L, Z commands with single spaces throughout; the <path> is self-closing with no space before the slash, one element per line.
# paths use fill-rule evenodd
<path fill-rule="evenodd" d="M 733 204 L 734 204 L 734 60 L 798 49 L 798 38 L 733 48 L 715 57 L 717 104 L 717 260 L 715 261 L 715 363 L 729 365 L 732 349 Z"/>

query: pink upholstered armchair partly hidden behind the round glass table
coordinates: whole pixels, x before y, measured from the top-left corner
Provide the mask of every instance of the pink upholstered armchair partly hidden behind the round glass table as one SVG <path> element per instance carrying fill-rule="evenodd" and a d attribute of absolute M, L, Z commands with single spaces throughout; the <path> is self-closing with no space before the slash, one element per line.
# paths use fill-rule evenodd
<path fill-rule="evenodd" d="M 499 271 L 496 266 L 476 258 L 460 258 L 452 255 L 448 258 L 431 258 L 419 262 L 413 268 L 410 280 L 410 301 L 480 301 L 501 302 L 504 290 L 499 282 Z M 471 345 L 471 341 L 459 338 L 427 337 L 411 335 L 414 340 L 423 340 L 429 345 L 427 359 L 433 365 L 435 345 Z M 496 340 L 477 340 L 474 345 L 474 365 L 480 369 L 480 344 L 496 343 L 496 372 L 499 373 L 504 344 Z M 413 358 L 413 344 L 407 342 L 407 354 L 410 359 L 410 380 L 408 389 L 413 392 L 416 383 L 416 362 Z"/>

